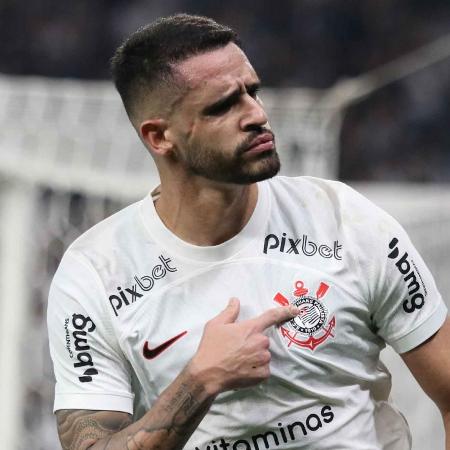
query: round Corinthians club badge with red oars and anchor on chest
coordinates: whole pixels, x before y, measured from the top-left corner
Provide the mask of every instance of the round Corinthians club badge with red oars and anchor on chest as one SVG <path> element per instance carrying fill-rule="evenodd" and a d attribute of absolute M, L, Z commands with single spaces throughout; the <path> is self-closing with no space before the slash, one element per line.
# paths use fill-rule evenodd
<path fill-rule="evenodd" d="M 321 282 L 315 297 L 308 295 L 309 289 L 305 288 L 303 281 L 295 282 L 292 304 L 300 309 L 298 316 L 280 326 L 281 335 L 288 341 L 288 347 L 292 344 L 299 347 L 314 349 L 323 344 L 330 336 L 334 337 L 336 319 L 333 316 L 328 321 L 328 309 L 321 299 L 325 297 L 330 286 Z M 289 305 L 289 300 L 277 293 L 274 300 L 282 306 Z"/>

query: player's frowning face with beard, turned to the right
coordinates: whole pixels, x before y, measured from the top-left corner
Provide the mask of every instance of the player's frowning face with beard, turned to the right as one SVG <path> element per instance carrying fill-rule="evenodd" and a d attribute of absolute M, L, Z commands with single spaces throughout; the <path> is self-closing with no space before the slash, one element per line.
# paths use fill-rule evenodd
<path fill-rule="evenodd" d="M 190 174 L 247 184 L 280 170 L 257 96 L 259 79 L 235 44 L 187 59 L 176 70 L 187 92 L 169 120 L 175 155 Z"/>

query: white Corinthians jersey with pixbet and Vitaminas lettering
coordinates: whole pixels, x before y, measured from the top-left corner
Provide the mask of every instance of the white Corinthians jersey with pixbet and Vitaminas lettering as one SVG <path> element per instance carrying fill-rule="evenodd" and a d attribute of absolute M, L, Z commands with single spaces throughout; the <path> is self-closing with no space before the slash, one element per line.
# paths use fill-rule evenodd
<path fill-rule="evenodd" d="M 287 303 L 300 314 L 267 330 L 271 377 L 219 395 L 186 449 L 410 448 L 379 354 L 421 344 L 446 308 L 395 220 L 311 177 L 259 183 L 247 225 L 217 246 L 172 234 L 150 195 L 77 239 L 50 290 L 55 410 L 141 417 L 230 297 L 238 320 Z"/>

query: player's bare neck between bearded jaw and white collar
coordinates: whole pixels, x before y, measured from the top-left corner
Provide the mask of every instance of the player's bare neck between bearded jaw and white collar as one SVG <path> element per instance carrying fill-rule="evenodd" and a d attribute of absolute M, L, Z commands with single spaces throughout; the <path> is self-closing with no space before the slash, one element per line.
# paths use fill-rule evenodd
<path fill-rule="evenodd" d="M 219 245 L 238 234 L 255 209 L 258 187 L 251 185 L 161 185 L 156 211 L 185 242 Z"/>

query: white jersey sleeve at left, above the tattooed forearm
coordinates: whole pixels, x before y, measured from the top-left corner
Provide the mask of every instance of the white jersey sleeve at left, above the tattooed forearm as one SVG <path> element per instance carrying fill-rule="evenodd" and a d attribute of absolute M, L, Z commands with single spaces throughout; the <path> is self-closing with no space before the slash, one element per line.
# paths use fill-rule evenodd
<path fill-rule="evenodd" d="M 101 300 L 103 287 L 82 255 L 66 253 L 54 276 L 47 311 L 56 377 L 54 411 L 133 413 L 129 364 Z"/>

